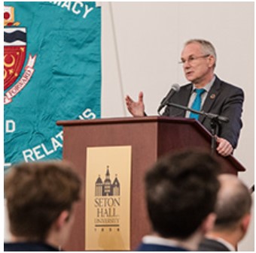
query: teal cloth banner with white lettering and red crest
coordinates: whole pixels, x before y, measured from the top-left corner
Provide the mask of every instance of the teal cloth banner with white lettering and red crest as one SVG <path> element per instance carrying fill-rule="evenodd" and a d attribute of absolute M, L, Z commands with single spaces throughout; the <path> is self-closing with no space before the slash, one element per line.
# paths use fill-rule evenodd
<path fill-rule="evenodd" d="M 5 169 L 62 158 L 58 120 L 100 118 L 96 2 L 5 2 Z"/>

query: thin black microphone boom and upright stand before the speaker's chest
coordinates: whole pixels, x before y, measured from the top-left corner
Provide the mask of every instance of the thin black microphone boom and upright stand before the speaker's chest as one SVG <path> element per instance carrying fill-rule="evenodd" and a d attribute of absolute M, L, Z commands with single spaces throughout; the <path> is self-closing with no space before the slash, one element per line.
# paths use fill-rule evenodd
<path fill-rule="evenodd" d="M 167 103 L 166 105 L 169 105 L 170 107 L 176 107 L 176 108 L 179 108 L 182 110 L 188 110 L 192 113 L 197 113 L 197 114 L 206 116 L 207 118 L 211 119 L 211 134 L 212 134 L 211 153 L 213 155 L 215 152 L 216 146 L 217 146 L 216 136 L 218 136 L 219 124 L 220 124 L 220 122 L 227 123 L 227 122 L 229 122 L 229 119 L 227 119 L 227 117 L 224 117 L 224 116 L 218 116 L 217 114 L 206 113 L 203 110 L 199 111 L 199 110 L 191 109 L 189 107 L 184 107 L 180 104 Z"/>

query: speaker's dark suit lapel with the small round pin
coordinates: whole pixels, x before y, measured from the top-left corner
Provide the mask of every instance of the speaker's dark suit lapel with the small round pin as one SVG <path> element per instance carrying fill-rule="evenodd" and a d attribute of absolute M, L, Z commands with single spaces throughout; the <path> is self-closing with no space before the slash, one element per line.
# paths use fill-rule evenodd
<path fill-rule="evenodd" d="M 221 92 L 221 80 L 216 77 L 215 82 L 212 85 L 212 88 L 209 90 L 209 93 L 206 97 L 205 102 L 203 103 L 202 110 L 206 113 L 209 112 L 209 110 L 212 107 L 212 104 L 215 102 L 215 99 L 218 97 L 219 92 Z M 200 115 L 199 121 L 203 123 L 203 121 L 206 119 L 206 116 Z"/>

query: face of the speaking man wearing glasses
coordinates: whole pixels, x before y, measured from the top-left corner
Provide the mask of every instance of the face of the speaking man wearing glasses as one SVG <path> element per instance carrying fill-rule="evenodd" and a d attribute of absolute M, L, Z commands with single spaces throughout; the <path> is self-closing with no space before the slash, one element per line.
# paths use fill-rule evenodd
<path fill-rule="evenodd" d="M 206 80 L 213 72 L 212 56 L 202 52 L 198 43 L 191 43 L 184 47 L 181 53 L 184 75 L 190 82 L 197 84 Z"/>

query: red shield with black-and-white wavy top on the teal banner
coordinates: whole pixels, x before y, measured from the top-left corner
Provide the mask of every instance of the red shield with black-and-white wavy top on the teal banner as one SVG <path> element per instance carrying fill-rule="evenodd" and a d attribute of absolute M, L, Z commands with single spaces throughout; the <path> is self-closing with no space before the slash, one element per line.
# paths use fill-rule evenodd
<path fill-rule="evenodd" d="M 4 89 L 8 89 L 20 76 L 26 59 L 26 28 L 4 29 Z"/>

